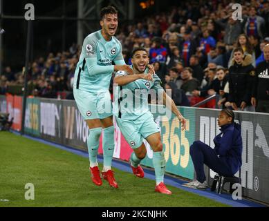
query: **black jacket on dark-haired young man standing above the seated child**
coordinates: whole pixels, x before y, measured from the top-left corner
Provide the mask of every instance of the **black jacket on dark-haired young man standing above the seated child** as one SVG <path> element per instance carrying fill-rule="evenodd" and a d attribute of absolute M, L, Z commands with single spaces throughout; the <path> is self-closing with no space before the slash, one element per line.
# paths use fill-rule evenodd
<path fill-rule="evenodd" d="M 236 106 L 240 106 L 241 102 L 245 102 L 247 106 L 251 105 L 255 79 L 251 63 L 251 55 L 245 55 L 242 64 L 236 64 L 233 60 L 229 68 L 229 101 L 236 103 Z"/>

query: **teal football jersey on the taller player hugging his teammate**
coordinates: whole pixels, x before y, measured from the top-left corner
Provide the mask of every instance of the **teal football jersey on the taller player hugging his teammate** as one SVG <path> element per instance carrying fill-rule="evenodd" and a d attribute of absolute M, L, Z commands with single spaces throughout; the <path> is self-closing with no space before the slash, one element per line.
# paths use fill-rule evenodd
<path fill-rule="evenodd" d="M 107 91 L 114 70 L 112 61 L 125 64 L 120 41 L 115 37 L 106 41 L 101 30 L 91 33 L 84 39 L 73 87 L 95 93 Z"/>

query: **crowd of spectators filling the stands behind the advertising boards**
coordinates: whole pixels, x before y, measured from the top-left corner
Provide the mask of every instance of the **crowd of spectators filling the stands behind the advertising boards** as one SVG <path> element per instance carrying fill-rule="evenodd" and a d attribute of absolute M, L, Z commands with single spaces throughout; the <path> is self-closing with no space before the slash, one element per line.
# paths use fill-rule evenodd
<path fill-rule="evenodd" d="M 266 66 L 264 62 L 269 62 L 269 55 L 267 58 L 263 53 L 269 44 L 269 1 L 244 1 L 242 19 L 234 19 L 232 4 L 188 1 L 168 12 L 138 19 L 135 24 L 120 23 L 116 37 L 122 43 L 126 63 L 131 64 L 133 48 L 147 48 L 150 63 L 163 87 L 172 90 L 176 105 L 192 106 L 216 94 L 219 102 L 209 102 L 205 107 L 254 111 L 253 96 L 258 102 L 259 97 L 269 102 L 269 86 L 263 90 L 265 95 L 256 91 L 269 85 L 269 78 L 263 77 L 263 84 L 257 79 L 257 68 L 260 70 L 261 64 Z M 236 56 L 241 52 L 239 61 Z M 73 99 L 73 76 L 79 55 L 80 46 L 73 44 L 66 52 L 35 59 L 28 75 L 29 94 Z M 0 79 L 0 94 L 15 84 L 24 84 L 23 74 L 6 67 Z M 262 112 L 269 112 L 266 110 Z"/>

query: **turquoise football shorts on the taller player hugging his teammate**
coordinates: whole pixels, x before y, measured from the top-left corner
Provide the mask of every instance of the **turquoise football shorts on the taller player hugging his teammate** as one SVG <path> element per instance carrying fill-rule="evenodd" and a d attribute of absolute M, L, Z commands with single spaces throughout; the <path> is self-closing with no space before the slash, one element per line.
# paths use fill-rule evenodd
<path fill-rule="evenodd" d="M 73 93 L 83 119 L 104 119 L 113 115 L 109 91 L 92 93 L 74 88 Z"/>

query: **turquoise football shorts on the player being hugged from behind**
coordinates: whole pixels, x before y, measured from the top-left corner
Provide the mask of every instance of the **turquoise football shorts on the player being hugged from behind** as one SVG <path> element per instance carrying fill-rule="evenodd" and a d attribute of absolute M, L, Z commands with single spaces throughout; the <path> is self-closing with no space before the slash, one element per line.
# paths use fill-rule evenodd
<path fill-rule="evenodd" d="M 149 135 L 160 132 L 160 128 L 150 112 L 141 115 L 135 120 L 121 119 L 119 117 L 115 117 L 115 119 L 122 135 L 133 149 L 142 145 L 143 138 L 146 139 Z"/>

